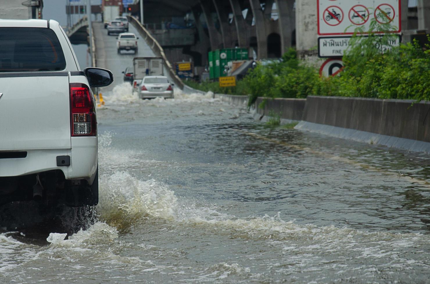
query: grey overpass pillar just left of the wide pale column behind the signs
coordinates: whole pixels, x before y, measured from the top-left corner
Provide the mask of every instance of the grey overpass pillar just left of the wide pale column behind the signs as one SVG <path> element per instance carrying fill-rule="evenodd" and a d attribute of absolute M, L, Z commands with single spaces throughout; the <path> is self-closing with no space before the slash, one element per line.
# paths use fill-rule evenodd
<path fill-rule="evenodd" d="M 281 35 L 281 53 L 284 54 L 291 47 L 291 36 L 295 29 L 295 0 L 276 0 L 279 15 L 279 33 Z"/>

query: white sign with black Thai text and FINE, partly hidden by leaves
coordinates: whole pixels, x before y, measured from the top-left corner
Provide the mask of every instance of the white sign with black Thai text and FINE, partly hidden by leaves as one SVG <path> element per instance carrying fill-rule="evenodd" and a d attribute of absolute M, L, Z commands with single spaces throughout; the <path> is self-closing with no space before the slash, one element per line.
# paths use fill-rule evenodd
<path fill-rule="evenodd" d="M 350 46 L 350 36 L 331 36 L 318 38 L 318 56 L 319 57 L 342 57 Z M 400 45 L 400 36 L 390 37 L 388 45 L 379 45 L 381 52 L 390 50 L 393 46 Z"/>

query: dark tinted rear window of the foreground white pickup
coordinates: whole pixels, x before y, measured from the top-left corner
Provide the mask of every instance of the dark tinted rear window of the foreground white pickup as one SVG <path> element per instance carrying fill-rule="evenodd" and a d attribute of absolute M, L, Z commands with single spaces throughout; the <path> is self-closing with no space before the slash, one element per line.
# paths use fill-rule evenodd
<path fill-rule="evenodd" d="M 60 71 L 63 50 L 53 30 L 41 27 L 0 27 L 0 72 Z"/>

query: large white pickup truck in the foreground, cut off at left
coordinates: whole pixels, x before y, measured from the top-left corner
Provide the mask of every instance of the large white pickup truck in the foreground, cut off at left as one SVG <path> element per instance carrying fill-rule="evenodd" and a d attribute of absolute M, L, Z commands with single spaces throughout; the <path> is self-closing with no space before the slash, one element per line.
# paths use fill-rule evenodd
<path fill-rule="evenodd" d="M 91 87 L 113 82 L 80 70 L 53 20 L 0 20 L 0 205 L 98 203 L 98 140 Z"/>

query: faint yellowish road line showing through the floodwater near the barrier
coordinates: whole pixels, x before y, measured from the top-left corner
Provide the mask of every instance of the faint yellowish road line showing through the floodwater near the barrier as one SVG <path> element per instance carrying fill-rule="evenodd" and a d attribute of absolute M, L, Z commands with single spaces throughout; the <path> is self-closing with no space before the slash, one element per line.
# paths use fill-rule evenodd
<path fill-rule="evenodd" d="M 356 162 L 356 161 L 353 161 L 353 160 L 350 160 L 350 159 L 347 159 L 347 158 L 339 157 L 339 156 L 336 156 L 336 155 L 333 155 L 333 154 L 329 154 L 329 153 L 324 153 L 324 152 L 321 152 L 321 151 L 315 151 L 315 150 L 313 150 L 313 149 L 311 149 L 309 147 L 301 147 L 301 146 L 293 145 L 293 144 L 290 144 L 290 143 L 287 143 L 287 142 L 278 141 L 276 139 L 267 138 L 265 136 L 261 136 L 261 135 L 256 134 L 256 133 L 252 133 L 252 132 L 248 132 L 248 131 L 244 131 L 244 130 L 236 130 L 236 129 L 233 129 L 233 130 L 238 131 L 238 132 L 243 133 L 243 134 L 248 135 L 248 136 L 252 136 L 252 137 L 255 137 L 255 138 L 267 141 L 267 142 L 272 142 L 272 143 L 275 143 L 275 144 L 287 146 L 287 147 L 294 148 L 294 149 L 301 150 L 301 151 L 307 151 L 308 153 L 314 154 L 316 156 L 326 157 L 326 158 L 329 158 L 329 159 L 332 159 L 332 160 L 336 160 L 336 161 L 340 161 L 340 162 L 343 162 L 343 163 L 347 163 L 347 164 L 350 164 L 350 165 L 360 166 L 363 169 L 368 169 L 368 170 L 373 171 L 373 172 L 381 172 L 381 173 L 384 173 L 384 174 L 387 174 L 387 175 L 395 175 L 395 176 L 397 176 L 399 178 L 407 180 L 410 183 L 418 183 L 418 184 L 421 184 L 423 186 L 430 187 L 429 186 L 430 182 L 426 181 L 424 179 L 421 179 L 421 178 L 413 178 L 411 176 L 408 176 L 408 175 L 405 175 L 405 174 L 402 174 L 402 173 L 388 172 L 387 170 L 384 170 L 384 169 L 381 169 L 381 168 L 377 168 L 375 166 L 370 166 L 370 165 L 365 164 L 365 163 Z"/>

